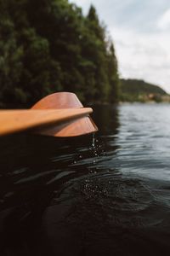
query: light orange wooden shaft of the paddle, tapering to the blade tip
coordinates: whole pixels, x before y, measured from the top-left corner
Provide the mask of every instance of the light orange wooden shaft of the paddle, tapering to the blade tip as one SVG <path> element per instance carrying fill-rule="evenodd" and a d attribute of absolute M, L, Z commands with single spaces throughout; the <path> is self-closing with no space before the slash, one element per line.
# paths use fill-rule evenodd
<path fill-rule="evenodd" d="M 92 108 L 1 110 L 0 135 L 26 131 L 40 126 L 64 125 L 73 119 L 88 116 L 88 113 L 92 112 Z"/>

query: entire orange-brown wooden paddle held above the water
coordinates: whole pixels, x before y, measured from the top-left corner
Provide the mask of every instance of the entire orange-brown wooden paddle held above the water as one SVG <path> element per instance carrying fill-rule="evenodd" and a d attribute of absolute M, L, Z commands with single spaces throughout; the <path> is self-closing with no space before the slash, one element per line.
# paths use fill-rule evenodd
<path fill-rule="evenodd" d="M 42 98 L 31 109 L 1 110 L 0 136 L 29 131 L 54 137 L 74 137 L 98 131 L 77 96 L 59 92 Z"/>

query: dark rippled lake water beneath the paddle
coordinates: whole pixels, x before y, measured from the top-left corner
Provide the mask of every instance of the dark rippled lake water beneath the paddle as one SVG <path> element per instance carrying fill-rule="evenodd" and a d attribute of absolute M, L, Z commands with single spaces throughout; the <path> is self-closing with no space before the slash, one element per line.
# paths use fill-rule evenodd
<path fill-rule="evenodd" d="M 169 255 L 170 105 L 94 108 L 99 133 L 0 139 L 0 255 Z"/>

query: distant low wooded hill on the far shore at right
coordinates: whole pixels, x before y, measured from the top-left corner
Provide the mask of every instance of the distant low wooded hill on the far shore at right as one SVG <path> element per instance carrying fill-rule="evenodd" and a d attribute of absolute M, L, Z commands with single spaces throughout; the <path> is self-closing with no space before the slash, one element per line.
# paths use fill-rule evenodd
<path fill-rule="evenodd" d="M 164 101 L 165 96 L 167 96 L 165 90 L 154 84 L 138 79 L 121 79 L 122 102 L 161 102 Z"/>

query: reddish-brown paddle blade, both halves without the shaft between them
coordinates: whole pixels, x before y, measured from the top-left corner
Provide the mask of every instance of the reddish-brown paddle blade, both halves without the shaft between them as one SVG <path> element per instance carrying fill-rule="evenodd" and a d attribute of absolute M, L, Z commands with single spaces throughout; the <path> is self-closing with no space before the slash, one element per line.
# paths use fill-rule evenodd
<path fill-rule="evenodd" d="M 82 103 L 77 96 L 71 92 L 57 92 L 42 98 L 37 102 L 32 109 L 49 109 L 49 108 L 80 108 L 83 109 Z M 68 120 L 60 125 L 50 125 L 47 127 L 40 127 L 34 132 L 47 136 L 54 137 L 75 137 L 83 134 L 93 133 L 98 131 L 97 126 L 93 120 L 88 116 L 79 119 Z"/>

